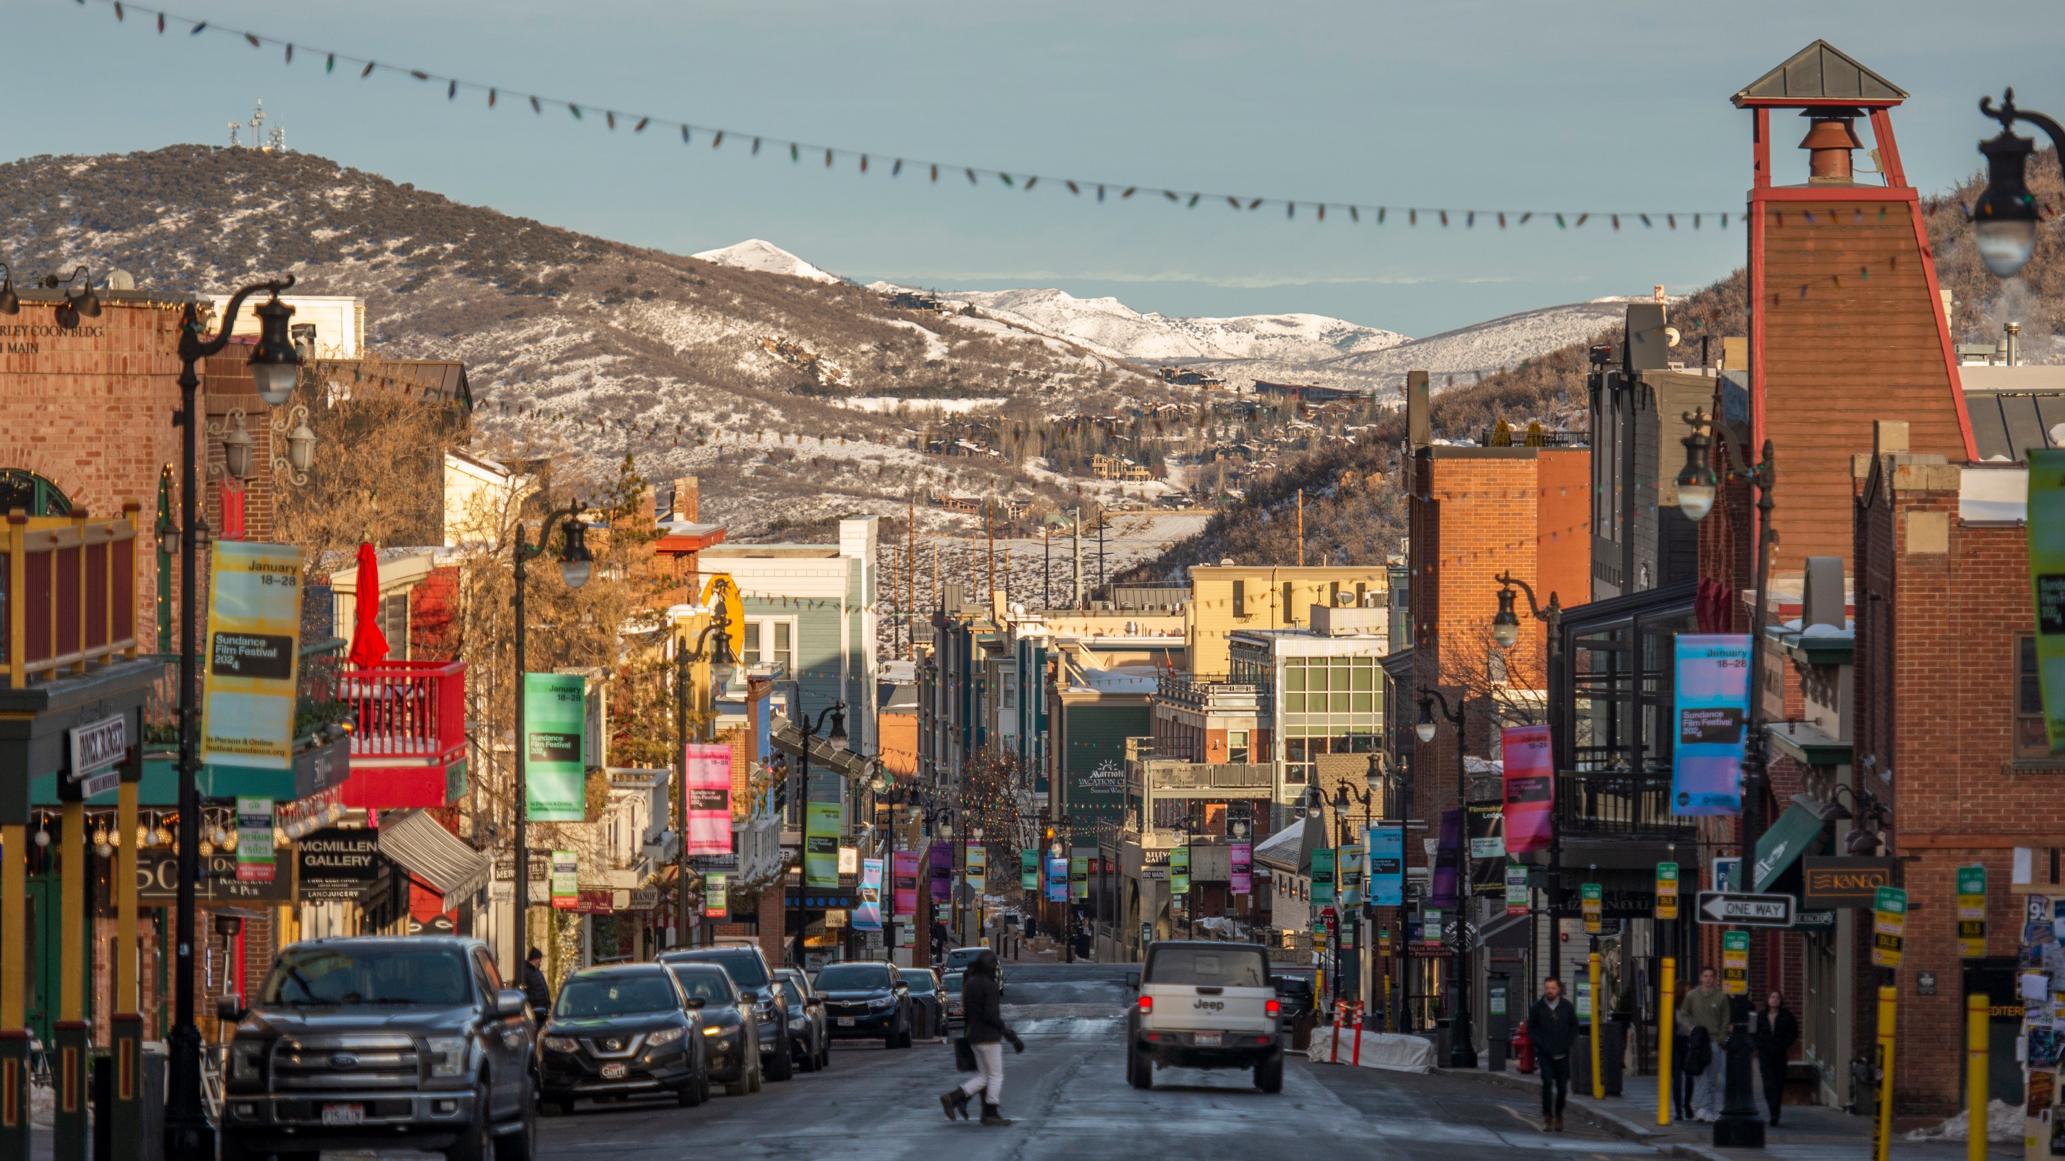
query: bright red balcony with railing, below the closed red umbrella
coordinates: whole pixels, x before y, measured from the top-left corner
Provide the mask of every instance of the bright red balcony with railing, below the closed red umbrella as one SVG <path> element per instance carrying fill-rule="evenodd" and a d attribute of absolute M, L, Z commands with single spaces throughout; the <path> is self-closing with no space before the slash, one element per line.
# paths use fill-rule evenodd
<path fill-rule="evenodd" d="M 337 676 L 347 707 L 345 806 L 450 806 L 467 787 L 467 663 L 384 661 Z"/>

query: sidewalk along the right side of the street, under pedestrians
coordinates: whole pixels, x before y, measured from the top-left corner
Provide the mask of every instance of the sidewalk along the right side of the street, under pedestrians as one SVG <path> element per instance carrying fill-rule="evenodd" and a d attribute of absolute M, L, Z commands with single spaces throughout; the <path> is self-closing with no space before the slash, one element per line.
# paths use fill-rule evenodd
<path fill-rule="evenodd" d="M 1540 1093 L 1538 1076 L 1520 1072 L 1485 1072 L 1481 1068 L 1437 1068 L 1443 1076 L 1474 1076 L 1487 1085 L 1505 1085 Z M 1693 1161 L 1869 1161 L 1871 1118 L 1850 1116 L 1823 1105 L 1786 1105 L 1782 1124 L 1766 1126 L 1764 1149 L 1714 1149 L 1714 1126 L 1706 1122 L 1656 1124 L 1656 1078 L 1627 1076 L 1623 1095 L 1592 1099 L 1571 1091 L 1569 1109 L 1627 1140 L 1640 1140 L 1660 1153 Z M 1764 1111 L 1764 1101 L 1757 1101 Z M 2020 1142 L 1993 1142 L 1991 1157 L 2022 1157 Z M 1962 1140 L 1902 1140 L 1894 1134 L 1892 1157 L 1898 1161 L 1964 1161 Z"/>

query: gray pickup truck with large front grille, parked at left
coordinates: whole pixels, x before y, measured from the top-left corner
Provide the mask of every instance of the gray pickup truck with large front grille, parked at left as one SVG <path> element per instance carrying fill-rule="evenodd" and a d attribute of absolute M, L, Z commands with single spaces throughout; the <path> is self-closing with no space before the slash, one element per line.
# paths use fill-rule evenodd
<path fill-rule="evenodd" d="M 223 1161 L 324 1149 L 535 1155 L 533 1025 L 477 940 L 359 936 L 279 954 L 250 1006 L 223 996 Z"/>

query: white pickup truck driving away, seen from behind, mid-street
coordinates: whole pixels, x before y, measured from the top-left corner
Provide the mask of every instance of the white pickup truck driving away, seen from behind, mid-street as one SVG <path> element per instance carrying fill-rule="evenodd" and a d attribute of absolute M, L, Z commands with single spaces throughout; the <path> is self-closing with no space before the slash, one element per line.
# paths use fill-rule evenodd
<path fill-rule="evenodd" d="M 1156 1068 L 1251 1068 L 1256 1089 L 1282 1093 L 1282 1002 L 1260 944 L 1148 944 L 1125 1018 L 1125 1078 L 1152 1089 Z"/>

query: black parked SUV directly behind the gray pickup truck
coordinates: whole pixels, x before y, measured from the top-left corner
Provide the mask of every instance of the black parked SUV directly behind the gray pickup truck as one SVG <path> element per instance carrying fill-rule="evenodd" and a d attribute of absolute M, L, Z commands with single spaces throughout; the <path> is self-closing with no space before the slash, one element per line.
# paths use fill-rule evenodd
<path fill-rule="evenodd" d="M 626 1097 L 700 1105 L 710 1097 L 702 1029 L 702 1016 L 673 973 L 657 963 L 615 963 L 568 975 L 539 1035 L 545 1109 L 564 1116 L 578 1099 Z"/>

